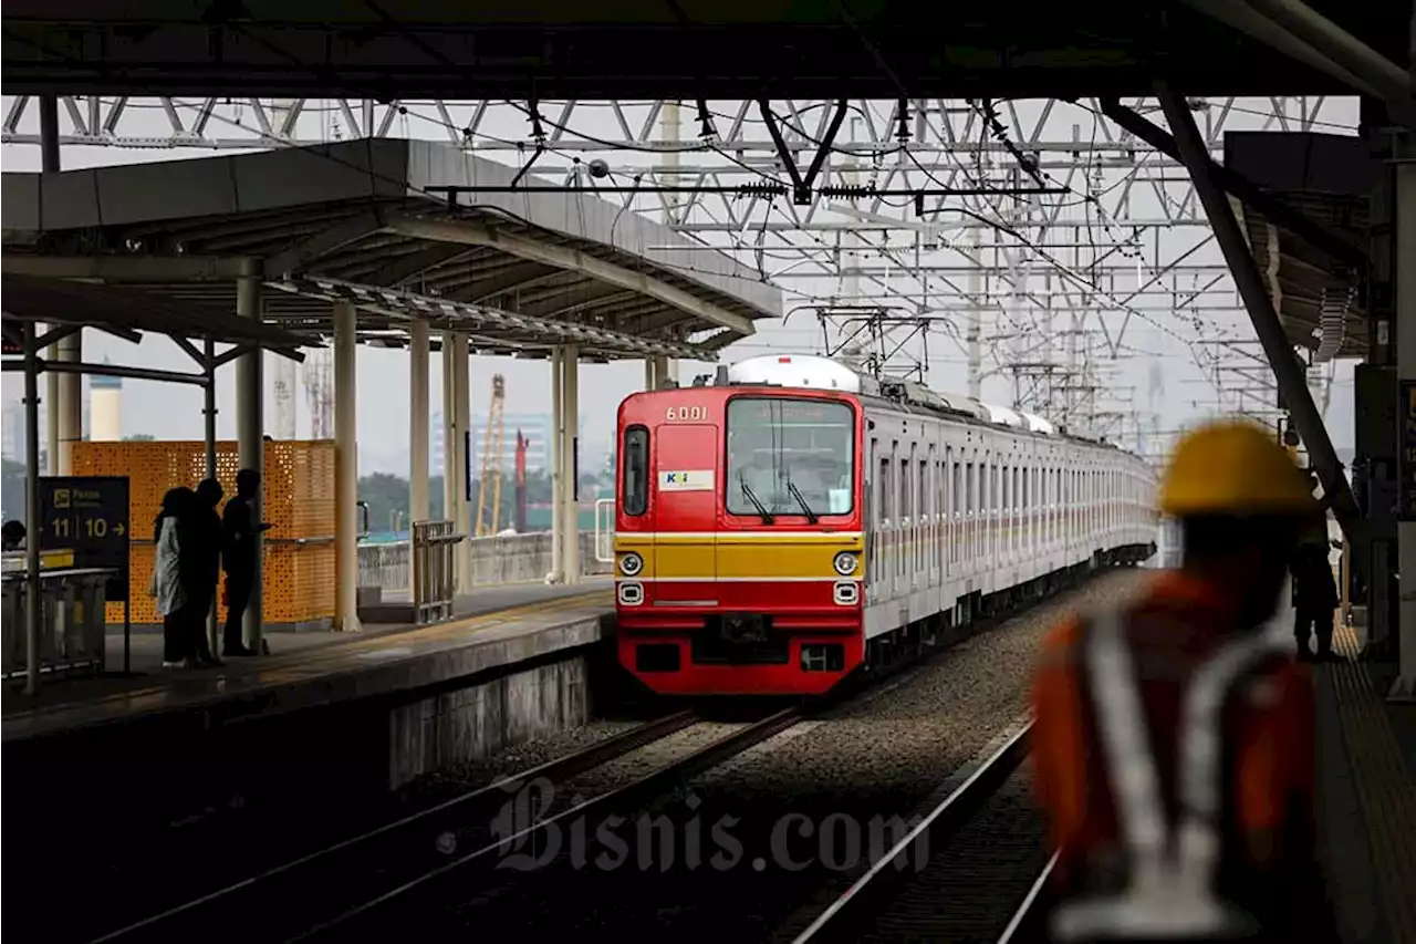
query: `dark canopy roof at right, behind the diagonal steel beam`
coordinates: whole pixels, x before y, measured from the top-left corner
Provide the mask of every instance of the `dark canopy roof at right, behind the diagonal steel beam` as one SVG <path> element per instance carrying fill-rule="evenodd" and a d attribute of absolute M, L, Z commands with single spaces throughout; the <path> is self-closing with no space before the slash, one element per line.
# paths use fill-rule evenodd
<path fill-rule="evenodd" d="M 1300 132 L 1231 132 L 1225 167 L 1259 184 L 1352 258 L 1314 245 L 1283 221 L 1231 200 L 1253 249 L 1264 289 L 1289 340 L 1314 361 L 1368 354 L 1365 248 L 1381 164 L 1364 137 Z"/>

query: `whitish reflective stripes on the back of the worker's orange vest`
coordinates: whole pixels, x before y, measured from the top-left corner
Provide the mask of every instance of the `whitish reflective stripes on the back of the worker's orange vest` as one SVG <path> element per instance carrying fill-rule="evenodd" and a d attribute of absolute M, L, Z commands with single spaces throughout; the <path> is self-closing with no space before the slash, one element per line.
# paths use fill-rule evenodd
<path fill-rule="evenodd" d="M 1087 683 L 1131 872 L 1119 896 L 1062 904 L 1052 918 L 1059 940 L 1206 938 L 1252 933 L 1253 920 L 1215 897 L 1219 866 L 1221 716 L 1235 682 L 1277 645 L 1253 634 L 1226 642 L 1195 672 L 1185 692 L 1177 777 L 1181 824 L 1167 835 L 1160 778 L 1131 656 L 1114 612 L 1083 638 Z"/>

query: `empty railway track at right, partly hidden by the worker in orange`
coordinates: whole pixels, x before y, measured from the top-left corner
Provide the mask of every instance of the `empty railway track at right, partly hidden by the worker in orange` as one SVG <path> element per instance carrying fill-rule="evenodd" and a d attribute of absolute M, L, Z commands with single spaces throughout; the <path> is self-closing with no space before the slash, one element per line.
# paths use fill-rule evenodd
<path fill-rule="evenodd" d="M 804 930 L 796 930 L 803 923 L 799 914 L 775 940 L 1037 940 L 1038 901 L 1051 865 L 1031 877 L 1037 873 L 1028 860 L 1045 853 L 1041 833 L 1020 824 L 1028 812 L 1020 768 L 1031 730 L 1029 721 L 1007 737 Z"/>

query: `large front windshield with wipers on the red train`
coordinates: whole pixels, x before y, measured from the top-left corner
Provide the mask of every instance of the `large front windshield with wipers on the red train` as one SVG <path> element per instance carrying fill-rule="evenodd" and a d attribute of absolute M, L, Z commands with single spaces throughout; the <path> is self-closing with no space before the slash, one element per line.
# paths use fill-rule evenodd
<path fill-rule="evenodd" d="M 735 397 L 728 403 L 728 512 L 772 520 L 850 515 L 855 411 L 844 403 Z"/>

